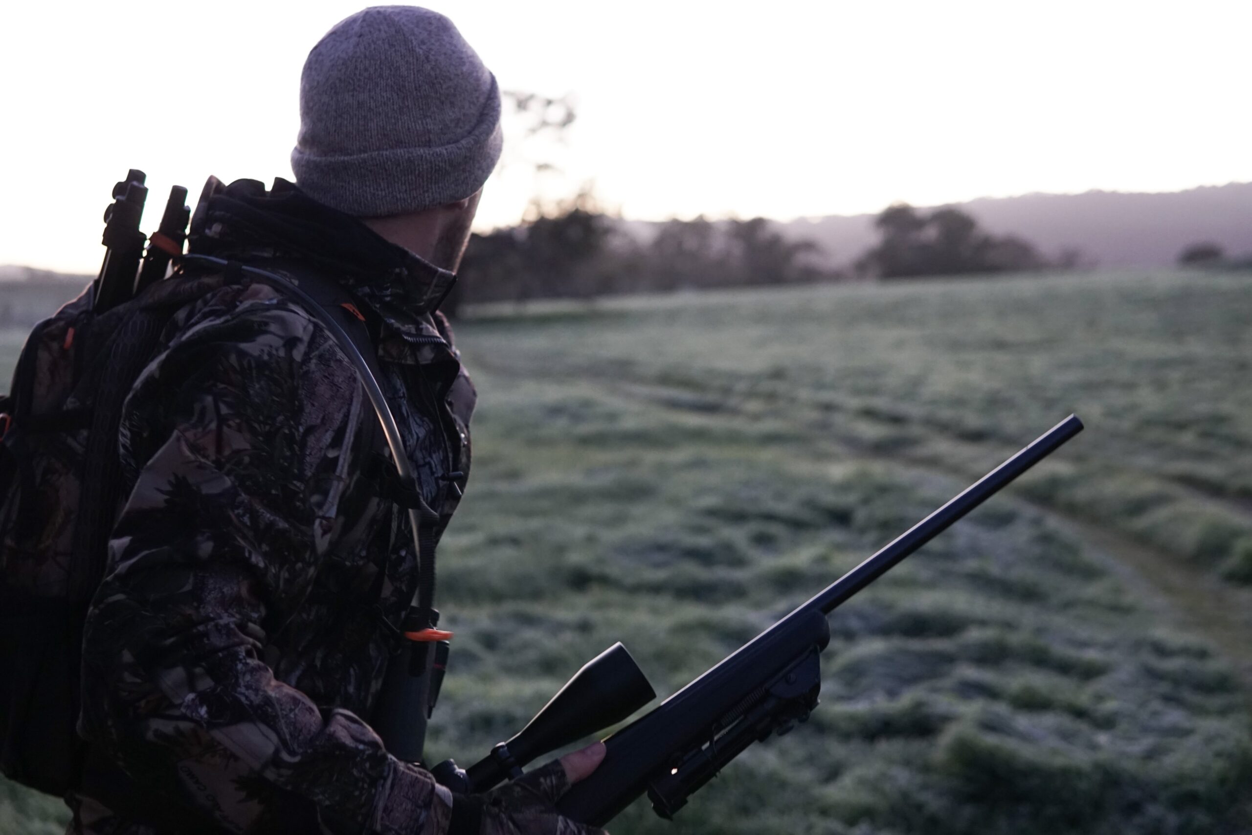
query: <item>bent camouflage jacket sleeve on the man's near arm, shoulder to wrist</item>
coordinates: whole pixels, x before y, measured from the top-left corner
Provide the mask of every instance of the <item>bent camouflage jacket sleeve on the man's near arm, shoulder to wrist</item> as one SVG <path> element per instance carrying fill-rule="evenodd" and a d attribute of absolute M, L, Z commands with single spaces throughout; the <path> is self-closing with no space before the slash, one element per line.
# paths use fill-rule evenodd
<path fill-rule="evenodd" d="M 88 615 L 80 730 L 229 831 L 446 831 L 446 789 L 263 660 L 344 528 L 372 419 L 351 367 L 280 299 L 180 334 L 128 399 L 139 463 Z"/>

